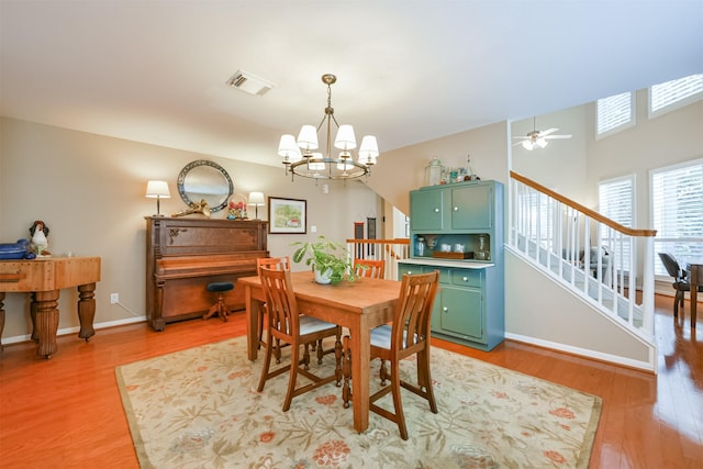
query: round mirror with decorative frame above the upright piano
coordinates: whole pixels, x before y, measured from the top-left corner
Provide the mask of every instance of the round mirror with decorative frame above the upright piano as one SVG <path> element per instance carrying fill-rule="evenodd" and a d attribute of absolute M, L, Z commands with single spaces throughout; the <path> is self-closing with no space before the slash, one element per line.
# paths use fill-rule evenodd
<path fill-rule="evenodd" d="M 188 206 L 204 200 L 210 212 L 219 212 L 227 206 L 234 193 L 234 183 L 222 166 L 199 159 L 181 169 L 178 175 L 178 193 Z"/>

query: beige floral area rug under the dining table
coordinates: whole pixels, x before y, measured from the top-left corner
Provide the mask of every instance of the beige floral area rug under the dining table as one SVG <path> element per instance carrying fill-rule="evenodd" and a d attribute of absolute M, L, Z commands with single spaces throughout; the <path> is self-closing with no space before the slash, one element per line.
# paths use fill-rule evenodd
<path fill-rule="evenodd" d="M 587 468 L 601 412 L 598 397 L 435 347 L 439 413 L 403 390 L 409 440 L 375 413 L 358 434 L 334 382 L 294 398 L 288 412 L 288 375 L 256 392 L 263 361 L 249 361 L 237 337 L 118 367 L 141 466 Z M 320 373 L 334 367 L 332 355 L 313 362 Z M 405 379 L 414 370 L 403 361 Z M 373 390 L 378 362 L 371 372 Z M 379 402 L 392 409 L 390 394 Z"/>

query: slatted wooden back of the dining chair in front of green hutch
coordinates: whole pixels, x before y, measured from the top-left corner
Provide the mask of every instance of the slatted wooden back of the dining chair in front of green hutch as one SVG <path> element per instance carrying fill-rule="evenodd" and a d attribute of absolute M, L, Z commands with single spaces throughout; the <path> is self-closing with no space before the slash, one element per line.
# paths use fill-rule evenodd
<path fill-rule="evenodd" d="M 429 273 L 404 275 L 395 316 L 391 349 L 411 351 L 429 337 L 429 321 L 439 282 L 437 270 Z M 403 326 L 400 327 L 399 325 Z"/>

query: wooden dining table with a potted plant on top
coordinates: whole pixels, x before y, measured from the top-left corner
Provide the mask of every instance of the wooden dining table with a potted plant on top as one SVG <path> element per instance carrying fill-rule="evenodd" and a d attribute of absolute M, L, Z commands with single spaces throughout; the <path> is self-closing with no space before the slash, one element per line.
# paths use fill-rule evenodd
<path fill-rule="evenodd" d="M 361 433 L 369 425 L 370 331 L 393 320 L 400 282 L 357 278 L 319 284 L 310 271 L 292 272 L 291 281 L 301 312 L 349 330 L 354 428 Z M 245 289 L 247 354 L 249 360 L 256 360 L 264 289 L 258 277 L 239 278 L 237 284 Z"/>

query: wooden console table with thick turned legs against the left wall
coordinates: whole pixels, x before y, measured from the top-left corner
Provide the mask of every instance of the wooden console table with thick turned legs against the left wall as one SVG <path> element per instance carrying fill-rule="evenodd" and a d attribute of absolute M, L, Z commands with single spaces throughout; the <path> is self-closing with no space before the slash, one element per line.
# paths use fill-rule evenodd
<path fill-rule="evenodd" d="M 96 334 L 96 282 L 100 281 L 100 257 L 40 257 L 34 260 L 0 260 L 0 337 L 4 328 L 5 293 L 31 292 L 32 339 L 36 355 L 49 358 L 57 350 L 58 293 L 78 288 L 78 337 L 88 340 Z M 0 342 L 0 348 L 2 344 Z"/>

